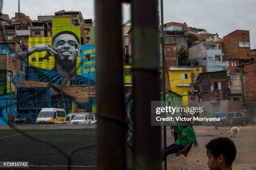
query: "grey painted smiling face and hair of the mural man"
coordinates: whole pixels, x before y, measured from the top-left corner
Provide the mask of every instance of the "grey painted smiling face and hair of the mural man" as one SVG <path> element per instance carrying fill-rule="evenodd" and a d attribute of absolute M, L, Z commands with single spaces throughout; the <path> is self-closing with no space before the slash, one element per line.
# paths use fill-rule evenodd
<path fill-rule="evenodd" d="M 52 48 L 58 53 L 54 55 L 56 61 L 63 63 L 76 63 L 77 56 L 80 56 L 79 42 L 70 34 L 61 34 L 54 39 Z"/>

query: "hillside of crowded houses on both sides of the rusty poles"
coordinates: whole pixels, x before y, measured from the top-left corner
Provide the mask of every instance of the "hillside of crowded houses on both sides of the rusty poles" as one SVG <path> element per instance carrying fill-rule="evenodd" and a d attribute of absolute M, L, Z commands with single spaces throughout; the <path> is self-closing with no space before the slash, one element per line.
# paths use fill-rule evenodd
<path fill-rule="evenodd" d="M 29 115 L 35 120 L 43 107 L 64 107 L 67 113 L 96 111 L 95 20 L 84 19 L 79 11 L 61 10 L 54 15 L 38 16 L 37 20 L 23 13 L 15 13 L 13 18 L 3 14 L 0 22 L 3 26 L 0 32 L 0 102 L 6 108 L 12 104 L 4 113 L 14 114 L 14 117 Z M 59 58 L 45 58 L 45 51 L 35 52 L 24 60 L 13 55 L 28 52 L 33 45 L 52 46 L 59 32 L 73 32 L 81 49 L 81 57 L 76 61 L 80 65 L 76 71 L 78 78 L 65 81 L 62 93 L 49 87 L 49 79 L 43 76 L 57 77 L 56 85 L 64 82 L 65 78 L 56 71 L 55 63 Z M 131 25 L 124 25 L 125 95 L 133 91 L 131 35 Z M 249 30 L 235 30 L 220 38 L 217 32 L 209 33 L 204 28 L 189 27 L 187 23 L 166 23 L 164 57 L 166 101 L 169 103 L 206 105 L 210 109 L 206 112 L 216 114 L 235 109 L 256 117 L 256 51 L 251 50 Z M 19 102 L 33 93 L 42 95 L 32 102 Z M 49 102 L 42 102 L 45 100 Z M 0 120 L 0 123 L 3 122 Z"/>

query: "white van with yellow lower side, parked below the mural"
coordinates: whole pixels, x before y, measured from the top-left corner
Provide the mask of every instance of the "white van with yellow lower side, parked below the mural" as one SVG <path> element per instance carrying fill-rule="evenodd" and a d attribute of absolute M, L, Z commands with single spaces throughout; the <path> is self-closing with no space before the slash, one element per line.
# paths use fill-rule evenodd
<path fill-rule="evenodd" d="M 67 123 L 65 109 L 42 108 L 36 118 L 36 123 Z"/>

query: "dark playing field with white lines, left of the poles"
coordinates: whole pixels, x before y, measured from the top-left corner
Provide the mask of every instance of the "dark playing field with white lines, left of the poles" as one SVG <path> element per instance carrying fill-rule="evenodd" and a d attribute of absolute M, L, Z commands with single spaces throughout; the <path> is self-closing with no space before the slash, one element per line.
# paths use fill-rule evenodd
<path fill-rule="evenodd" d="M 46 139 L 67 153 L 74 147 L 97 143 L 96 129 L 24 130 L 33 137 Z M 106 146 L 108 147 L 108 146 Z M 29 161 L 29 170 L 67 170 L 67 158 L 59 151 L 31 140 L 15 130 L 0 130 L 0 161 Z M 127 150 L 127 169 L 132 169 L 132 154 Z M 110 165 L 111 166 L 111 165 Z M 4 168 L 6 170 L 17 168 Z M 97 170 L 97 148 L 91 147 L 72 155 L 72 170 Z"/>

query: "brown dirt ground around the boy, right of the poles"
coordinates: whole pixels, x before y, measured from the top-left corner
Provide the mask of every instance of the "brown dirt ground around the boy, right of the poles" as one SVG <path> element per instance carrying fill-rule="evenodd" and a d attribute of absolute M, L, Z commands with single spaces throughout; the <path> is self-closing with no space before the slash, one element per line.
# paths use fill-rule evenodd
<path fill-rule="evenodd" d="M 228 137 L 230 127 L 194 126 L 198 148 L 192 147 L 188 156 L 167 156 L 168 170 L 209 170 L 205 145 L 212 139 Z M 166 127 L 167 146 L 174 143 L 169 127 Z M 236 145 L 237 155 L 233 162 L 233 170 L 256 170 L 256 126 L 242 127 L 239 138 L 231 138 Z M 163 141 L 163 140 L 162 140 Z M 164 166 L 162 166 L 164 167 Z M 164 168 L 163 168 L 164 169 Z"/>

